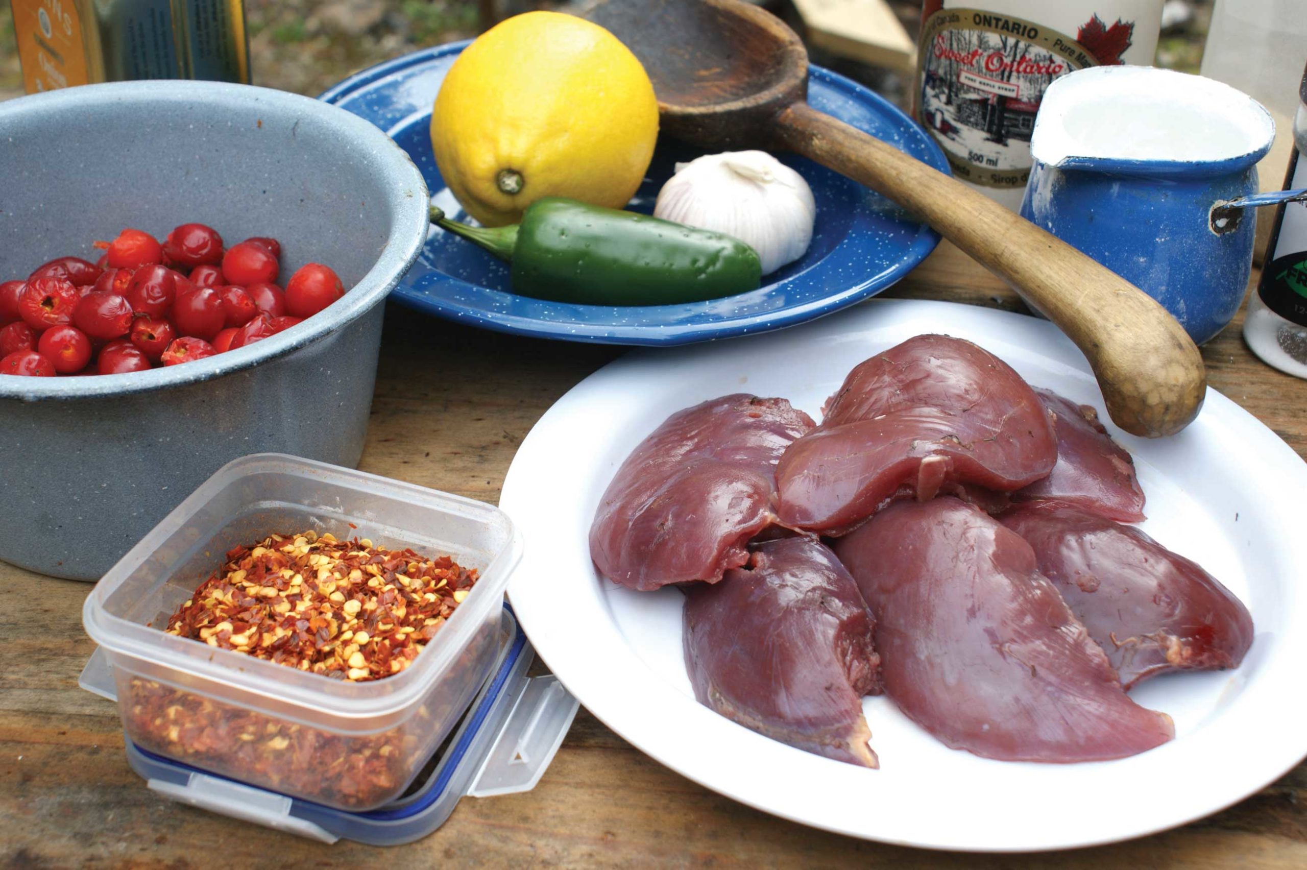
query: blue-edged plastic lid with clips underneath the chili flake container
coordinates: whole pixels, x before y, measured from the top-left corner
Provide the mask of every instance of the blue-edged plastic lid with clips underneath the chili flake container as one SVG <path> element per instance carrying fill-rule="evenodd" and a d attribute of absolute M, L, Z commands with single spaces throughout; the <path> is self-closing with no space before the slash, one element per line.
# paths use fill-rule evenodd
<path fill-rule="evenodd" d="M 127 741 L 127 762 L 150 790 L 179 803 L 267 828 L 335 843 L 412 843 L 434 832 L 464 796 L 529 792 L 562 743 L 576 699 L 553 674 L 527 677 L 535 651 L 512 611 L 505 607 L 499 656 L 457 732 L 422 767 L 396 801 L 366 813 L 346 813 L 290 798 L 154 755 Z M 115 699 L 114 673 L 97 651 L 81 686 Z"/>

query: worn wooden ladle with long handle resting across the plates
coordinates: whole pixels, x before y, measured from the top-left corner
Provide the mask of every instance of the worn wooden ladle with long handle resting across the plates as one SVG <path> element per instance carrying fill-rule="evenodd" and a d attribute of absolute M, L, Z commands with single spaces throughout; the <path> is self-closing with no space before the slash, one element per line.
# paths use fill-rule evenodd
<path fill-rule="evenodd" d="M 587 13 L 644 64 L 663 131 L 712 149 L 784 149 L 881 193 L 1000 276 L 1089 358 L 1117 426 L 1170 435 L 1202 406 L 1188 333 L 1134 285 L 1034 223 L 806 102 L 808 52 L 742 0 L 600 0 Z"/>

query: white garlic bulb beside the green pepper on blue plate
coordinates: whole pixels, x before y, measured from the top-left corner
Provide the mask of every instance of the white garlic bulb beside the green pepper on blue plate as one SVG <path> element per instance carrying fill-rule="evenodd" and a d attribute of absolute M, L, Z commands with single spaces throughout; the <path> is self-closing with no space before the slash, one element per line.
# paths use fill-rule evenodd
<path fill-rule="evenodd" d="M 740 239 L 767 274 L 808 250 L 817 202 L 808 182 L 771 154 L 727 152 L 677 163 L 654 217 Z"/>

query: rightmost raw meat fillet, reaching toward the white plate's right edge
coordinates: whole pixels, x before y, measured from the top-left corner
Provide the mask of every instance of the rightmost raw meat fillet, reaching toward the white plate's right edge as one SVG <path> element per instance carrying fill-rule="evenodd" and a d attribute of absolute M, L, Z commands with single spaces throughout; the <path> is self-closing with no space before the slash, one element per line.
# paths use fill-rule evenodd
<path fill-rule="evenodd" d="M 1252 645 L 1248 609 L 1138 529 L 1057 502 L 1016 506 L 1000 521 L 1034 549 L 1125 688 L 1167 670 L 1238 668 Z"/>

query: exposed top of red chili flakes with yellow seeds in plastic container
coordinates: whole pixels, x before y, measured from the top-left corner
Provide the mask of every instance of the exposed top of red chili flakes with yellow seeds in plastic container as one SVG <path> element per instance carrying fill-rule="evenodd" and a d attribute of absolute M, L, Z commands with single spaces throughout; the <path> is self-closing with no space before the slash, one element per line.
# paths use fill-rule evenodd
<path fill-rule="evenodd" d="M 417 658 L 476 581 L 448 556 L 369 538 L 271 534 L 230 550 L 166 631 L 324 677 L 383 679 Z"/>

